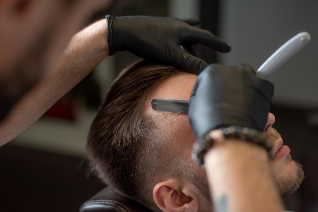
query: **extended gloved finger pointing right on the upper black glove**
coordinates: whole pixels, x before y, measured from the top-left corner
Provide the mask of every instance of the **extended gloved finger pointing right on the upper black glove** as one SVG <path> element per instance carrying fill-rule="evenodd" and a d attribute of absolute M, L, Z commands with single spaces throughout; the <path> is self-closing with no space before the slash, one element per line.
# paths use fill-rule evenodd
<path fill-rule="evenodd" d="M 182 31 L 179 36 L 179 42 L 197 43 L 209 46 L 219 52 L 229 52 L 231 47 L 218 37 L 214 36 L 210 31 L 195 27 L 188 27 L 186 31 Z"/>

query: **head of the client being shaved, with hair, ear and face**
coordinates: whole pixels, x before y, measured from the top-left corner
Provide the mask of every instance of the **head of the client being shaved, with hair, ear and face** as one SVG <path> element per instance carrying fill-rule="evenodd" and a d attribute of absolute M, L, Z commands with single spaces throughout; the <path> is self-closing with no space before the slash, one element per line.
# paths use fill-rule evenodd
<path fill-rule="evenodd" d="M 196 78 L 175 67 L 146 61 L 117 77 L 87 144 L 90 165 L 103 182 L 153 210 L 212 208 L 206 174 L 191 158 L 197 138 L 187 114 L 151 108 L 152 98 L 188 100 Z M 272 128 L 273 117 L 269 114 L 265 134 L 279 140 Z M 295 162 L 276 159 L 273 170 L 283 178 L 296 172 Z"/>

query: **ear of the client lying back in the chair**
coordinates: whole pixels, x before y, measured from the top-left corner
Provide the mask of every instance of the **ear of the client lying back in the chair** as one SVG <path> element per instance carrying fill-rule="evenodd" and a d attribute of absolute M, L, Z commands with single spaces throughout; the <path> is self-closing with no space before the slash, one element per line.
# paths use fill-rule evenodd
<path fill-rule="evenodd" d="M 194 212 L 198 211 L 199 203 L 192 186 L 188 181 L 169 179 L 156 184 L 152 191 L 156 205 L 162 211 Z"/>

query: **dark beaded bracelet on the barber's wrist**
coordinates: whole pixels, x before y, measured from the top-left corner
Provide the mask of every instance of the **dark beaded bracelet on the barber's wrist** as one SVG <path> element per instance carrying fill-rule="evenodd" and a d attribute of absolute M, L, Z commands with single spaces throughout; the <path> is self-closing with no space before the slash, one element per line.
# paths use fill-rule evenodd
<path fill-rule="evenodd" d="M 257 145 L 266 150 L 269 158 L 272 159 L 271 150 L 273 145 L 268 142 L 265 135 L 255 129 L 239 126 L 229 126 L 225 128 L 213 129 L 194 144 L 192 157 L 202 167 L 204 167 L 204 156 L 206 152 L 213 148 L 216 143 L 227 142 L 227 140 L 238 140 Z"/>

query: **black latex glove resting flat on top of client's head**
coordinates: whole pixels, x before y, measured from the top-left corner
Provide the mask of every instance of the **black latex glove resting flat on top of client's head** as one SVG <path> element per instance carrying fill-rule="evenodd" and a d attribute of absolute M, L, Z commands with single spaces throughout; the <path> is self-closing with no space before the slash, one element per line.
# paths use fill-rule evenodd
<path fill-rule="evenodd" d="M 197 25 L 198 21 L 186 23 L 177 18 L 151 16 L 106 18 L 110 55 L 118 51 L 130 51 L 144 59 L 199 74 L 207 63 L 195 57 L 199 56 L 198 44 L 219 52 L 229 52 L 231 49 L 211 32 L 192 26 Z M 180 45 L 195 56 L 182 50 Z"/>

